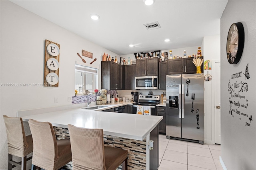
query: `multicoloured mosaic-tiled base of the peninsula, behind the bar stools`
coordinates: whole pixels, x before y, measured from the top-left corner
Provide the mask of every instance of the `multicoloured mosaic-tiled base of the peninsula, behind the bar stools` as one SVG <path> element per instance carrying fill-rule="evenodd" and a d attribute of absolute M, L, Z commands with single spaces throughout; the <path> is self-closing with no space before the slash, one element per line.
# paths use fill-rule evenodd
<path fill-rule="evenodd" d="M 54 131 L 57 140 L 70 139 L 67 128 L 54 126 Z M 137 141 L 104 135 L 104 145 L 128 150 L 128 170 L 146 170 L 146 139 Z M 72 161 L 66 164 L 65 168 L 72 170 Z M 117 169 L 121 170 L 122 166 Z"/>

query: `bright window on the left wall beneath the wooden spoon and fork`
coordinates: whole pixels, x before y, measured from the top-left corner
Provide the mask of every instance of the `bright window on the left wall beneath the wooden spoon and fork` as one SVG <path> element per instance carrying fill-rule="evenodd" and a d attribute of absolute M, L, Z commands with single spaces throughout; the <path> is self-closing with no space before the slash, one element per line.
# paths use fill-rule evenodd
<path fill-rule="evenodd" d="M 98 69 L 76 64 L 75 86 L 78 93 L 94 92 L 98 88 Z"/>

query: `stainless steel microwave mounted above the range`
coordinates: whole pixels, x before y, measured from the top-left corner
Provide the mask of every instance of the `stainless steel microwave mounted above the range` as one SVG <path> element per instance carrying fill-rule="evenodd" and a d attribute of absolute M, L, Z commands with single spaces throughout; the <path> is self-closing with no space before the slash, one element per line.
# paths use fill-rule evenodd
<path fill-rule="evenodd" d="M 158 76 L 135 77 L 136 89 L 158 89 Z"/>

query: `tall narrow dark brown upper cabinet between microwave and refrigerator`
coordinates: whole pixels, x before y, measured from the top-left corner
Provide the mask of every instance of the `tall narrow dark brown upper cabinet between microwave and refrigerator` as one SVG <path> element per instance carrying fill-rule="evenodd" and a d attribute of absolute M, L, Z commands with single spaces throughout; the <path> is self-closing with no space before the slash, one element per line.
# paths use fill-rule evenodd
<path fill-rule="evenodd" d="M 166 74 L 167 74 L 167 62 L 159 63 L 159 90 L 166 90 Z"/>

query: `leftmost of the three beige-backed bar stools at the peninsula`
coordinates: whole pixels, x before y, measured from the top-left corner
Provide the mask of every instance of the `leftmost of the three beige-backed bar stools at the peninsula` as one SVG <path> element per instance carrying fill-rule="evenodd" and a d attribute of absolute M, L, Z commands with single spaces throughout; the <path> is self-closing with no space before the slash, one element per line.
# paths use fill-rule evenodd
<path fill-rule="evenodd" d="M 27 161 L 32 158 L 27 155 L 33 152 L 32 136 L 25 135 L 23 121 L 21 117 L 8 117 L 3 115 L 4 124 L 7 133 L 8 144 L 8 170 L 18 166 L 22 170 L 26 170 Z M 15 162 L 12 157 L 21 157 L 21 162 Z"/>

